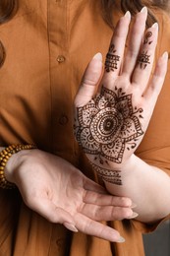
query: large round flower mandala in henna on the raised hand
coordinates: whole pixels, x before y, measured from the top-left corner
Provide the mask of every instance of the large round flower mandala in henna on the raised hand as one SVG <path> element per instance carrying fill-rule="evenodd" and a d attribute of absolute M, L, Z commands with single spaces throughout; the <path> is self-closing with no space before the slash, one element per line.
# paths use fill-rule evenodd
<path fill-rule="evenodd" d="M 142 136 L 142 108 L 133 108 L 132 95 L 102 87 L 101 94 L 77 108 L 75 136 L 85 154 L 100 165 L 121 163 L 125 150 Z"/>

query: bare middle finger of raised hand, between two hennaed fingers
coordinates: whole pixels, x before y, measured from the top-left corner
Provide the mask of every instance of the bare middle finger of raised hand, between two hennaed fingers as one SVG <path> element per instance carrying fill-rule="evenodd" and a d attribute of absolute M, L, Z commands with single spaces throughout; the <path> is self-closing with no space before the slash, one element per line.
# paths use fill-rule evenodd
<path fill-rule="evenodd" d="M 132 30 L 130 32 L 130 40 L 128 49 L 124 58 L 122 67 L 122 74 L 127 75 L 131 79 L 131 75 L 137 63 L 140 48 L 142 45 L 142 36 L 145 30 L 145 21 L 147 17 L 146 7 L 142 8 L 142 11 L 137 14 Z"/>

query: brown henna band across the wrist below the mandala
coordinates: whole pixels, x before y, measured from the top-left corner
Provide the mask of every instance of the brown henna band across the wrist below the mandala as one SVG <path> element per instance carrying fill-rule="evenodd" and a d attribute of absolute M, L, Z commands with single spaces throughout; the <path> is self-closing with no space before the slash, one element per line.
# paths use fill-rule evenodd
<path fill-rule="evenodd" d="M 90 162 L 91 163 L 91 162 Z M 98 176 L 103 180 L 115 185 L 123 185 L 121 178 L 121 170 L 110 170 L 101 168 L 98 165 L 91 163 L 92 168 L 96 171 Z"/>

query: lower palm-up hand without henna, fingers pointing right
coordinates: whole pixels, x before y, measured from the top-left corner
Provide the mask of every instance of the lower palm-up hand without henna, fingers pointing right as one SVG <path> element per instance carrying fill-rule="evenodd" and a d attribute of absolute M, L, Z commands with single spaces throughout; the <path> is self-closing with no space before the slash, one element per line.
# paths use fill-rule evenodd
<path fill-rule="evenodd" d="M 39 150 L 13 155 L 5 174 L 30 209 L 73 231 L 121 242 L 118 231 L 99 222 L 136 216 L 130 199 L 109 195 L 68 161 Z"/>

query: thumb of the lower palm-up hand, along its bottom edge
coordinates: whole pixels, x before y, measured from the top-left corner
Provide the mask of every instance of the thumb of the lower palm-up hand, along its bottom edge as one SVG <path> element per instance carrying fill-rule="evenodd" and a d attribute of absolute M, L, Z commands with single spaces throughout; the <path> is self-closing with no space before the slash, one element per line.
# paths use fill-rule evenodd
<path fill-rule="evenodd" d="M 31 202 L 26 202 L 28 207 L 44 217 L 50 223 L 75 224 L 74 218 L 63 209 L 57 207 L 52 201 L 46 198 L 34 197 Z"/>

